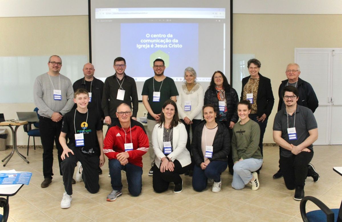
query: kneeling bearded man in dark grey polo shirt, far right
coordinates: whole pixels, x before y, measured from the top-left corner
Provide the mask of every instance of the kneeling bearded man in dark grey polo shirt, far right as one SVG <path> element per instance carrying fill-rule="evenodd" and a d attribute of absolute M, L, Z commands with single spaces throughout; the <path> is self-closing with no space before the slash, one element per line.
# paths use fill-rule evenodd
<path fill-rule="evenodd" d="M 294 86 L 284 87 L 282 98 L 286 109 L 277 112 L 273 123 L 273 140 L 280 147 L 280 169 L 286 187 L 295 189 L 295 200 L 304 197 L 307 176 L 319 179 L 309 164 L 314 155 L 312 143 L 318 138 L 317 122 L 310 109 L 297 105 L 298 95 Z"/>

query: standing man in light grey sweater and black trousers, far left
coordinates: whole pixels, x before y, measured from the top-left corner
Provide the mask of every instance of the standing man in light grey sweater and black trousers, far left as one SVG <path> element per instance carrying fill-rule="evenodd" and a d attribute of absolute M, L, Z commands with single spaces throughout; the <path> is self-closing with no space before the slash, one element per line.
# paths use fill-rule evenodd
<path fill-rule="evenodd" d="M 39 75 L 34 83 L 34 102 L 38 107 L 40 139 L 43 145 L 43 175 L 41 188 L 52 182 L 53 143 L 56 143 L 61 171 L 63 148 L 58 138 L 61 134 L 63 115 L 74 106 L 74 89 L 71 81 L 60 74 L 62 59 L 57 55 L 49 58 L 49 71 Z"/>

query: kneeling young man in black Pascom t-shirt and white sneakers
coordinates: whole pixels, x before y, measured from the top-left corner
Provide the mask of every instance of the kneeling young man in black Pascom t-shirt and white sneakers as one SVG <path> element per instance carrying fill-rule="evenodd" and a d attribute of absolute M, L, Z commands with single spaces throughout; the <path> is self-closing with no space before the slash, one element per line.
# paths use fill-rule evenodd
<path fill-rule="evenodd" d="M 97 170 L 105 162 L 101 116 L 96 110 L 87 108 L 88 91 L 77 89 L 74 93 L 74 102 L 77 104 L 77 109 L 64 115 L 59 138 L 63 147 L 61 168 L 65 188 L 61 208 L 70 207 L 71 195 L 73 194 L 71 179 L 76 164 L 78 166 L 76 181 L 81 182 L 83 180 L 90 193 L 97 193 L 100 189 Z M 96 135 L 98 145 L 95 142 Z M 68 144 L 66 144 L 66 137 L 69 139 Z M 97 155 L 98 152 L 100 152 L 100 158 Z"/>

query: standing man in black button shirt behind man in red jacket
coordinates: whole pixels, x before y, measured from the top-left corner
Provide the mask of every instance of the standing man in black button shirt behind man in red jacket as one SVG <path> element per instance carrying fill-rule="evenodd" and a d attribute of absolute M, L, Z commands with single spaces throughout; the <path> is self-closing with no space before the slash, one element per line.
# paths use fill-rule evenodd
<path fill-rule="evenodd" d="M 105 122 L 109 125 L 118 122 L 116 117 L 116 108 L 121 103 L 128 104 L 132 109 L 132 119 L 136 120 L 138 112 L 138 93 L 136 84 L 132 77 L 125 73 L 126 60 L 122 57 L 114 59 L 115 74 L 105 80 L 102 95 L 102 109 L 105 115 Z M 132 108 L 133 103 L 133 108 Z"/>

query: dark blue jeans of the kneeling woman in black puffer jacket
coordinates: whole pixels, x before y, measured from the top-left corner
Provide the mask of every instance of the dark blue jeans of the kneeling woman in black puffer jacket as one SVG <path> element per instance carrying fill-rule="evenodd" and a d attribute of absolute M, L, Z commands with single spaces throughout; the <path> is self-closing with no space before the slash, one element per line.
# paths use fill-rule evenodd
<path fill-rule="evenodd" d="M 221 181 L 221 173 L 227 169 L 228 163 L 225 161 L 212 161 L 207 168 L 202 170 L 200 166 L 194 166 L 193 188 L 201 192 L 206 189 L 208 178 L 214 179 L 214 182 Z"/>

